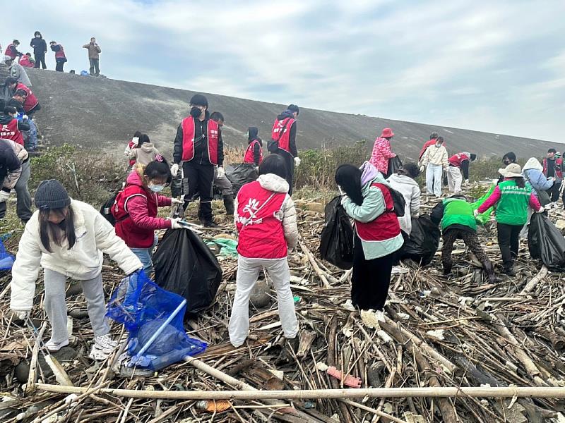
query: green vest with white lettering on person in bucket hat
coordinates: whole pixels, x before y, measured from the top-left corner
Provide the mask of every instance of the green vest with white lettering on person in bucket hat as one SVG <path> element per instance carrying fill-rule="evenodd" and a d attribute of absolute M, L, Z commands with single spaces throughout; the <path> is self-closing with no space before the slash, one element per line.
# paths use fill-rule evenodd
<path fill-rule="evenodd" d="M 496 221 L 506 225 L 523 225 L 528 221 L 528 205 L 532 187 L 518 188 L 516 181 L 499 183 L 500 200 L 496 204 Z"/>

